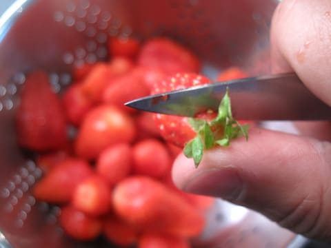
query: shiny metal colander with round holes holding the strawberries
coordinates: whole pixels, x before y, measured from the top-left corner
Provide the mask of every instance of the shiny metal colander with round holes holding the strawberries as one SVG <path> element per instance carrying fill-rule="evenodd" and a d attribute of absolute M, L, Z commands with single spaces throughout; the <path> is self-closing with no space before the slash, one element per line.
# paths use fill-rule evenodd
<path fill-rule="evenodd" d="M 30 70 L 49 73 L 55 92 L 70 83 L 74 66 L 108 57 L 109 37 L 144 40 L 165 35 L 203 60 L 203 72 L 238 65 L 270 72 L 269 29 L 276 0 L 17 0 L 0 18 L 0 247 L 112 247 L 78 243 L 57 225 L 59 207 L 30 193 L 42 176 L 21 152 L 14 112 Z M 222 200 L 206 216 L 197 247 L 288 247 L 290 231 Z"/>

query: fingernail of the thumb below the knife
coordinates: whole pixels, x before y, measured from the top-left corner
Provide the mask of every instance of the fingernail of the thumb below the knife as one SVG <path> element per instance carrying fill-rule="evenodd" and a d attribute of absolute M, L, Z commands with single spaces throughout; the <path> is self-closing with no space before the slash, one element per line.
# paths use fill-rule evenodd
<path fill-rule="evenodd" d="M 233 167 L 208 169 L 192 176 L 183 190 L 194 194 L 235 200 L 243 189 L 243 181 Z"/>

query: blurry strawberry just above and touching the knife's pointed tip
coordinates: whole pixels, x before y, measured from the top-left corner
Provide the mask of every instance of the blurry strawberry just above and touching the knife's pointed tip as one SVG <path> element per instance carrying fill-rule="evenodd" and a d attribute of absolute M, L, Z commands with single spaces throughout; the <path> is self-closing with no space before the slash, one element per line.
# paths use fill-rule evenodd
<path fill-rule="evenodd" d="M 143 81 L 143 71 L 137 68 L 114 79 L 103 91 L 102 99 L 104 103 L 116 105 L 127 112 L 134 112 L 133 108 L 126 107 L 124 103 L 147 96 L 148 93 L 149 89 Z"/>

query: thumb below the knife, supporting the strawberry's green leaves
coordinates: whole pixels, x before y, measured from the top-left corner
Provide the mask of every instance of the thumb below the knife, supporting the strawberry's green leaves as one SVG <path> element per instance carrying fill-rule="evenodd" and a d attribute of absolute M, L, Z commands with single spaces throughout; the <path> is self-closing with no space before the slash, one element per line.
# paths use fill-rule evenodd
<path fill-rule="evenodd" d="M 181 155 L 172 176 L 181 189 L 255 209 L 300 234 L 328 238 L 331 145 L 252 129 L 248 143 L 205 152 L 197 169 Z"/>

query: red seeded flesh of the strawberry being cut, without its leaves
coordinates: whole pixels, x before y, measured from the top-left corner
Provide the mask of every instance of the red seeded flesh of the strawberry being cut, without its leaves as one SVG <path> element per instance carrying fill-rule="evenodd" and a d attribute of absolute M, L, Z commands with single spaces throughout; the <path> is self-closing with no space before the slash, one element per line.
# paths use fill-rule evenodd
<path fill-rule="evenodd" d="M 172 90 L 181 90 L 187 87 L 210 83 L 210 79 L 194 73 L 176 74 L 154 85 L 152 94 L 160 94 Z M 159 127 L 161 136 L 165 141 L 183 147 L 185 143 L 194 138 L 197 132 L 188 123 L 188 117 L 154 114 L 154 121 Z"/>

